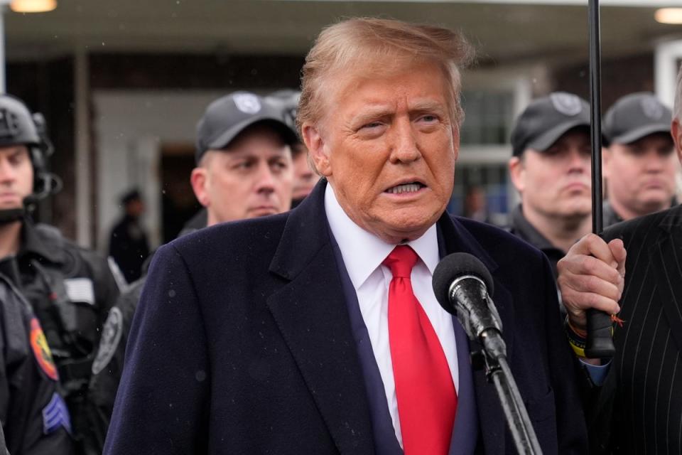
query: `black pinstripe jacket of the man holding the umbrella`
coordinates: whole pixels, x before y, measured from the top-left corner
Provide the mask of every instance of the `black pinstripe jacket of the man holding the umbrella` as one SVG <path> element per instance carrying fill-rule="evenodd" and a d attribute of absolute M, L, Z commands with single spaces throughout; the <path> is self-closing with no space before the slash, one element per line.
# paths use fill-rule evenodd
<path fill-rule="evenodd" d="M 682 205 L 603 237 L 622 238 L 627 250 L 625 322 L 590 425 L 593 451 L 682 454 Z"/>

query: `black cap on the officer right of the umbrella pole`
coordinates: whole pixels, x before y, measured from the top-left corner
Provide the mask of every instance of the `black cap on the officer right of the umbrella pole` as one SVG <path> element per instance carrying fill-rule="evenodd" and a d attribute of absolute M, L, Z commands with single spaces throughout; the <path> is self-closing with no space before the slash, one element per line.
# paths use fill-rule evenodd
<path fill-rule="evenodd" d="M 649 134 L 670 134 L 671 110 L 651 92 L 620 98 L 604 116 L 602 136 L 606 145 L 631 144 Z"/>

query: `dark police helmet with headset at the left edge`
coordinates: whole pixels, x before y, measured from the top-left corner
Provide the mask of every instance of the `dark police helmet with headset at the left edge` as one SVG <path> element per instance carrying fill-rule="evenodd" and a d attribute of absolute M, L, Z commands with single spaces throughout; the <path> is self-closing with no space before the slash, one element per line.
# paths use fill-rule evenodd
<path fill-rule="evenodd" d="M 25 145 L 33 164 L 33 193 L 28 202 L 43 199 L 61 188 L 59 179 L 48 172 L 47 160 L 53 146 L 47 137 L 45 117 L 31 114 L 21 100 L 0 95 L 0 147 Z"/>

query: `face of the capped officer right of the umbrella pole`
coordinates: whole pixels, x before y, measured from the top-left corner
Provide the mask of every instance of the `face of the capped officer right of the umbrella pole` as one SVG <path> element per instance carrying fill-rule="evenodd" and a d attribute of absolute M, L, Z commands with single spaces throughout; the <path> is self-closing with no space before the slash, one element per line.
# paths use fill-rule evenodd
<path fill-rule="evenodd" d="M 603 151 L 608 196 L 629 213 L 644 215 L 668 208 L 678 168 L 669 134 L 649 134 Z"/>

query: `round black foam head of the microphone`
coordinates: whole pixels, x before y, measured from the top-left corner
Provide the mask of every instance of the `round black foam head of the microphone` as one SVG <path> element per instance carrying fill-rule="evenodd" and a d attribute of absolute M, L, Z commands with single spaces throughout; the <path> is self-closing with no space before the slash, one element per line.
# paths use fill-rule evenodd
<path fill-rule="evenodd" d="M 465 275 L 473 275 L 480 278 L 485 283 L 485 287 L 489 295 L 492 295 L 494 287 L 492 284 L 492 276 L 487 267 L 477 257 L 469 253 L 453 253 L 443 257 L 438 262 L 433 272 L 433 292 L 435 298 L 438 299 L 440 306 L 446 311 L 451 311 L 450 298 L 450 284 L 453 284 L 455 279 Z"/>

